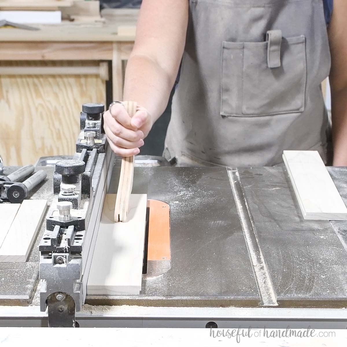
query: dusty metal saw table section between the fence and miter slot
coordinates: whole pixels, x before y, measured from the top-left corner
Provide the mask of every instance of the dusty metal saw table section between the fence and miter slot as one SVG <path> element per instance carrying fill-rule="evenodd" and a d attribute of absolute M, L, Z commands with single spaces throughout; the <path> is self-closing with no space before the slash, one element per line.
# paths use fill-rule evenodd
<path fill-rule="evenodd" d="M 119 169 L 108 193 L 116 193 Z M 254 305 L 260 301 L 226 168 L 135 168 L 133 193 L 170 205 L 171 269 L 144 279 L 139 297 L 86 302 L 144 306 Z M 99 230 L 102 232 L 102 230 Z"/>

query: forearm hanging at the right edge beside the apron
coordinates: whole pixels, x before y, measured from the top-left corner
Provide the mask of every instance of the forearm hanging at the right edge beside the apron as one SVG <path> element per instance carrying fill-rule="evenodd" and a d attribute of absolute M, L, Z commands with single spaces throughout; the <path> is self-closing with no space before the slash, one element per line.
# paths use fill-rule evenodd
<path fill-rule="evenodd" d="M 347 166 L 347 86 L 331 93 L 333 165 Z"/>

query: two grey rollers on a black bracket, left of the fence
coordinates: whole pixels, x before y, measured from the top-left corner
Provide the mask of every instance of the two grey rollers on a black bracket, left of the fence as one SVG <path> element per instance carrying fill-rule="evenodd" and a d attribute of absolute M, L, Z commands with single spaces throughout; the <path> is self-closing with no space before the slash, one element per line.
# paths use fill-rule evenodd
<path fill-rule="evenodd" d="M 39 170 L 24 182 L 20 182 L 25 177 L 31 175 L 34 170 L 35 167 L 33 165 L 25 165 L 8 176 L 0 175 L 0 202 L 5 200 L 12 204 L 22 203 L 29 195 L 29 192 L 47 176 L 44 170 Z"/>

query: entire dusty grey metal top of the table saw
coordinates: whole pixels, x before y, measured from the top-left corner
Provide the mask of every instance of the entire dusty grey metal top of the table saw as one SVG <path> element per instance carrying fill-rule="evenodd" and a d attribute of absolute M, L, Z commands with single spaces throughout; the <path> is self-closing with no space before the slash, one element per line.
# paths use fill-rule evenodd
<path fill-rule="evenodd" d="M 52 199 L 53 167 L 31 198 Z M 5 168 L 8 174 L 13 168 Z M 346 202 L 346 168 L 328 168 Z M 247 202 L 259 249 L 245 242 L 230 179 Z M 108 193 L 116 193 L 119 167 Z M 234 185 L 235 190 L 235 185 Z M 143 279 L 137 297 L 88 296 L 93 305 L 345 307 L 347 223 L 304 220 L 285 168 L 136 167 L 133 193 L 170 205 L 171 269 Z M 244 194 L 244 195 L 243 195 Z M 38 244 L 26 263 L 0 263 L 0 303 L 39 305 Z M 255 264 L 261 252 L 264 263 Z M 253 262 L 253 265 L 252 265 Z M 257 267 L 261 268 L 260 272 Z M 264 267 L 264 268 L 263 268 Z M 265 270 L 265 271 L 264 271 Z M 259 274 L 270 285 L 259 283 Z M 265 301 L 264 301 L 265 299 Z M 267 304 L 269 305 L 269 304 Z"/>

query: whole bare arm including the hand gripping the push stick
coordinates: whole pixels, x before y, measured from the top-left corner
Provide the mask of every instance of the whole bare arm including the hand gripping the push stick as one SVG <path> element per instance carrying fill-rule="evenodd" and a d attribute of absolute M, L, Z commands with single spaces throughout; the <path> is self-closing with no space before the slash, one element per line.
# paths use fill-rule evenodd
<path fill-rule="evenodd" d="M 103 115 L 107 141 L 117 155 L 138 154 L 164 112 L 184 51 L 187 23 L 187 0 L 142 0 L 123 93 L 123 100 L 140 107 L 130 118 L 115 103 Z"/>

